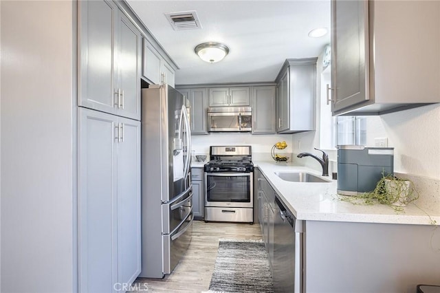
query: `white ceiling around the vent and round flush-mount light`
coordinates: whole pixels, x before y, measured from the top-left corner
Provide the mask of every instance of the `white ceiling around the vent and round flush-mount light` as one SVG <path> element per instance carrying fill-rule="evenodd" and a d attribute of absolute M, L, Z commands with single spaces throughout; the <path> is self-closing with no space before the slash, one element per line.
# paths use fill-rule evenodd
<path fill-rule="evenodd" d="M 330 34 L 307 36 L 314 28 L 330 29 L 329 0 L 289 1 L 150 1 L 129 5 L 175 61 L 176 84 L 272 82 L 286 58 L 317 57 Z M 201 30 L 173 30 L 165 12 L 196 10 Z M 199 43 L 224 43 L 230 53 L 219 63 L 195 54 Z"/>

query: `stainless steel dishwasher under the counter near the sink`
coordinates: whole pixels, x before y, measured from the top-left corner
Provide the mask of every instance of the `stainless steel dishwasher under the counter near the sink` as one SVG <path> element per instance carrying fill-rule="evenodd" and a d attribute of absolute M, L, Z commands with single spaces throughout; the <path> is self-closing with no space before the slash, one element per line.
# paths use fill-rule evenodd
<path fill-rule="evenodd" d="M 303 291 L 303 230 L 284 204 L 275 198 L 274 263 L 275 292 Z"/>

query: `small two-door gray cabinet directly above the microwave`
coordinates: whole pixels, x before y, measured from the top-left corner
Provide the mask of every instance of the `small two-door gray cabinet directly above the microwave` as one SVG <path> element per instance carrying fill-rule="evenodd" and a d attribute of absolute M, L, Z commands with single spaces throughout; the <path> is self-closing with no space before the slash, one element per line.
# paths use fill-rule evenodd
<path fill-rule="evenodd" d="M 250 106 L 249 87 L 211 87 L 209 107 Z"/>

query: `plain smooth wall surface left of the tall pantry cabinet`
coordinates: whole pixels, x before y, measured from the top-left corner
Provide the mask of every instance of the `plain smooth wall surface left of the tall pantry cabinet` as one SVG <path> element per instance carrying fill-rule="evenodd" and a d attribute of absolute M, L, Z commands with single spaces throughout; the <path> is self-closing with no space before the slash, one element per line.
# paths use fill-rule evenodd
<path fill-rule="evenodd" d="M 72 292 L 72 1 L 0 1 L 1 292 Z"/>

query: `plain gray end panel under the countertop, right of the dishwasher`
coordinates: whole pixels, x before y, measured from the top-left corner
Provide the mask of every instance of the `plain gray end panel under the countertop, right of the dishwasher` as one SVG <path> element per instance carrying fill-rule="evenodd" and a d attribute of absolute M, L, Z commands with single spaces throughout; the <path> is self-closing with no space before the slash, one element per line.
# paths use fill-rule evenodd
<path fill-rule="evenodd" d="M 303 292 L 417 292 L 417 284 L 440 285 L 435 228 L 305 221 Z"/>

